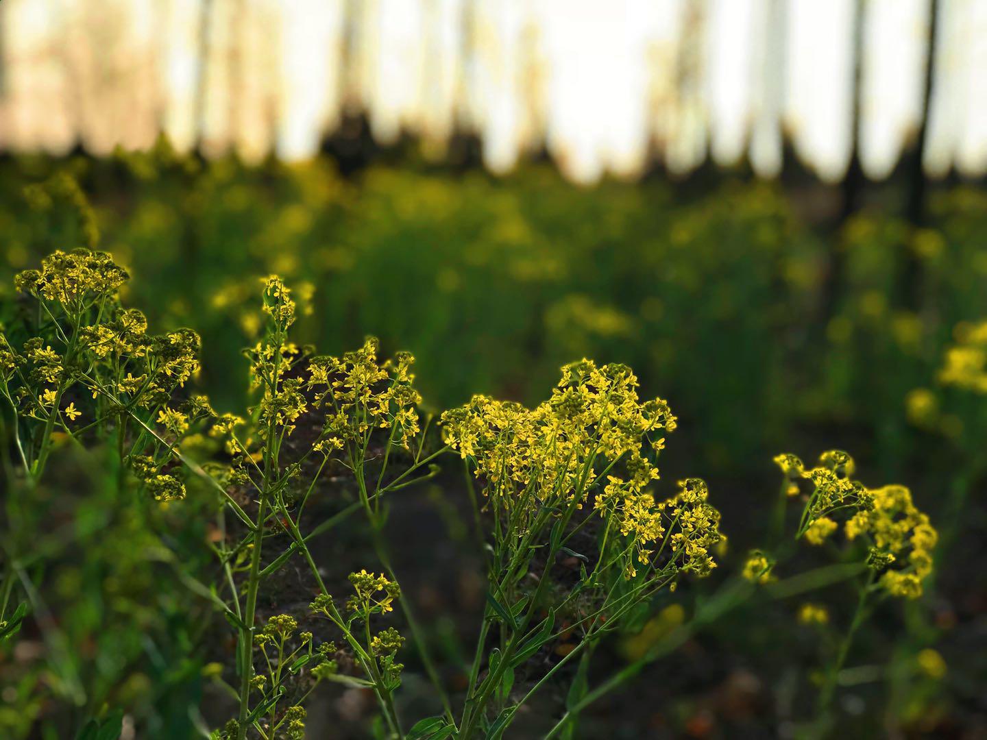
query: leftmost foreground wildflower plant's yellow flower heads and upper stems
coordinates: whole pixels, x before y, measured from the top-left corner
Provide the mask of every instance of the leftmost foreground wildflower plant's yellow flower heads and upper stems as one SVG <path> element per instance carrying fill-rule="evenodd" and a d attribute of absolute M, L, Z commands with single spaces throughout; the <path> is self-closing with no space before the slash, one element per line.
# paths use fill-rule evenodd
<path fill-rule="evenodd" d="M 161 466 L 165 448 L 211 413 L 204 398 L 181 398 L 198 371 L 199 338 L 149 334 L 143 314 L 120 305 L 127 279 L 110 255 L 86 249 L 20 272 L 15 286 L 30 300 L 21 325 L 0 334 L 0 395 L 29 481 L 43 474 L 56 433 L 80 441 L 92 430 L 114 435 L 121 460 L 140 457 L 138 476 L 156 497 L 181 498 L 183 483 Z"/>

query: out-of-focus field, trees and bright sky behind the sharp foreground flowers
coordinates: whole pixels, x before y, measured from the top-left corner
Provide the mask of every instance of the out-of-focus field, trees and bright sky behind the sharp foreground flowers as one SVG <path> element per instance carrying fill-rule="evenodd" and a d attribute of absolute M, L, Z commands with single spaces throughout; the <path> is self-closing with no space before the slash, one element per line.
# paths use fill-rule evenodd
<path fill-rule="evenodd" d="M 112 252 L 152 326 L 202 334 L 220 410 L 243 401 L 270 272 L 301 340 L 411 350 L 436 410 L 627 362 L 680 417 L 663 479 L 710 481 L 736 557 L 780 452 L 846 449 L 867 484 L 910 485 L 941 575 L 861 640 L 858 737 L 987 735 L 987 382 L 944 372 L 957 348 L 967 379 L 987 366 L 985 174 L 987 0 L 0 4 L 2 295 L 51 250 Z M 133 522 L 118 536 L 144 547 Z M 408 582 L 441 606 L 458 587 L 420 558 Z M 50 598 L 89 605 L 67 639 L 92 646 L 132 612 L 72 560 Z M 817 661 L 792 615 L 747 617 L 586 736 L 784 736 L 787 671 Z M 96 691 L 124 686 L 165 732 L 197 668 L 159 671 L 130 636 Z"/>

